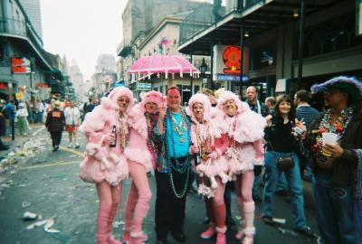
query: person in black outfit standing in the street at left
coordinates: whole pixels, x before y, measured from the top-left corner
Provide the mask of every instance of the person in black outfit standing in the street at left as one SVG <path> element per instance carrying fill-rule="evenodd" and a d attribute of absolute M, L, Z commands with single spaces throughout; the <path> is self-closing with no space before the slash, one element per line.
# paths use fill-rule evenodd
<path fill-rule="evenodd" d="M 62 131 L 65 125 L 64 113 L 60 110 L 61 102 L 55 101 L 54 108 L 48 112 L 45 127 L 52 137 L 52 151 L 57 151 L 62 141 Z"/>

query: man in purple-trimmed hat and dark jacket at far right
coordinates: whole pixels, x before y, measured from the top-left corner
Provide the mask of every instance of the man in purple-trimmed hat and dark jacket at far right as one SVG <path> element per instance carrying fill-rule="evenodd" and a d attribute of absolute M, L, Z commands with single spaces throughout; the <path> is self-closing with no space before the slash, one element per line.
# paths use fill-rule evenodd
<path fill-rule="evenodd" d="M 313 192 L 317 221 L 326 244 L 362 243 L 362 83 L 336 77 L 311 87 L 324 92 L 329 109 L 310 126 Z M 337 143 L 323 143 L 324 133 Z"/>

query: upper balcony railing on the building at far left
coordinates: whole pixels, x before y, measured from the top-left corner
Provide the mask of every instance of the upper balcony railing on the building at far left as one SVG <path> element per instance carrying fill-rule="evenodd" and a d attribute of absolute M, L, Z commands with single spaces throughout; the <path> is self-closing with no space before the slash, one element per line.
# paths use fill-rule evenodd
<path fill-rule="evenodd" d="M 39 40 L 38 36 L 36 36 L 33 31 L 33 27 L 29 23 L 9 18 L 0 18 L 0 23 L 0 34 L 7 33 L 27 38 L 29 42 L 32 42 L 34 48 L 40 53 L 43 60 L 49 65 L 52 65 L 52 62 L 43 50 L 42 41 Z"/>

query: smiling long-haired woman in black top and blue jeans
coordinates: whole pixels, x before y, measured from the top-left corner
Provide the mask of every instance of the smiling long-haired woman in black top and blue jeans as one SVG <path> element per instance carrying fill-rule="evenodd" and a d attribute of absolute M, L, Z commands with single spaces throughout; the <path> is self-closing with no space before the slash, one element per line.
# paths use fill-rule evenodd
<path fill-rule="evenodd" d="M 289 184 L 293 221 L 296 231 L 312 237 L 314 233 L 306 223 L 304 214 L 303 184 L 301 183 L 299 159 L 296 154 L 296 144 L 300 136 L 292 134 L 294 131 L 305 131 L 305 126 L 295 117 L 293 100 L 288 95 L 277 98 L 275 115 L 267 117 L 268 127 L 265 129 L 265 138 L 268 142 L 265 153 L 265 186 L 262 194 L 262 221 L 273 224 L 272 202 L 278 180 L 283 172 Z M 301 135 L 301 134 L 299 134 Z M 294 166 L 281 171 L 277 166 L 280 158 L 291 157 Z"/>

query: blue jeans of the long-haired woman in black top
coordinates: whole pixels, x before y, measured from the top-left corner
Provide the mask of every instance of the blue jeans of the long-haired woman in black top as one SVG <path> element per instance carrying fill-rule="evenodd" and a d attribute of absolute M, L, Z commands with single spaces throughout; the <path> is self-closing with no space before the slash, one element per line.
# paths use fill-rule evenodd
<path fill-rule="evenodd" d="M 304 215 L 303 186 L 300 178 L 300 166 L 298 156 L 295 153 L 266 152 L 265 154 L 265 187 L 262 194 L 262 216 L 272 217 L 271 205 L 277 184 L 281 177 L 281 171 L 277 167 L 277 158 L 291 156 L 294 167 L 284 172 L 291 192 L 291 206 L 293 208 L 293 220 L 296 229 L 306 227 Z"/>

